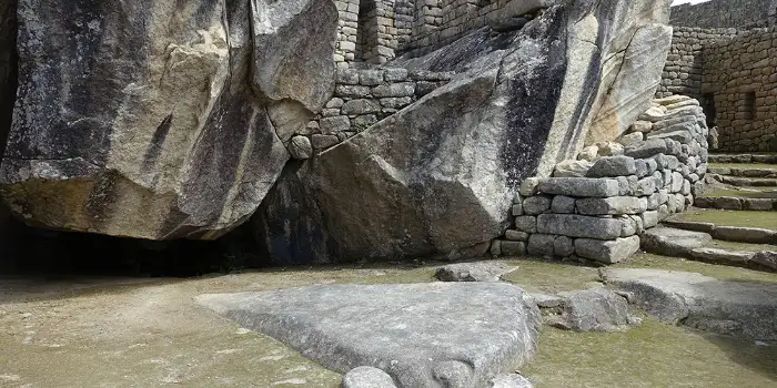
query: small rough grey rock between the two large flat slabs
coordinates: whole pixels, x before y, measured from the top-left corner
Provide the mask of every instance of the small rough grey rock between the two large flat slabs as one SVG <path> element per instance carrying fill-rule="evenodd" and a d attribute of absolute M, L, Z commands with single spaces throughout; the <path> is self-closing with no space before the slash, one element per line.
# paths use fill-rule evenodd
<path fill-rule="evenodd" d="M 626 298 L 604 288 L 562 293 L 563 310 L 554 326 L 574 331 L 619 331 L 628 327 Z"/>

